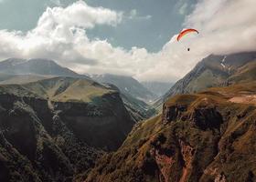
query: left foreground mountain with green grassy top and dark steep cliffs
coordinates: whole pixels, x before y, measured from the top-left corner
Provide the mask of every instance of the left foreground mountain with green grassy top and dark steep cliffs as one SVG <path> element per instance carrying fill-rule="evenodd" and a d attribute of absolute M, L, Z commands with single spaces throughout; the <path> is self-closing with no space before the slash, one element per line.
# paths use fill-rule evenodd
<path fill-rule="evenodd" d="M 0 86 L 0 181 L 72 181 L 134 121 L 119 93 L 78 77 Z"/>

